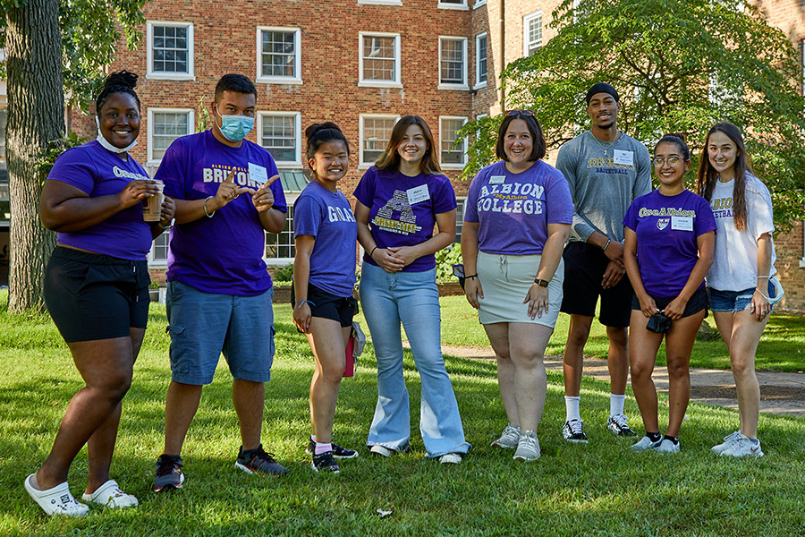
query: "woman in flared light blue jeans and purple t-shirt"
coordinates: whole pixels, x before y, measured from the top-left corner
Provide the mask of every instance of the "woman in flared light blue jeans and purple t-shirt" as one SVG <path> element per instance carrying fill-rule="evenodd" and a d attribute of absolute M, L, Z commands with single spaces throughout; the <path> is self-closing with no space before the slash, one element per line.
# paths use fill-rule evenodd
<path fill-rule="evenodd" d="M 379 456 L 408 448 L 402 322 L 422 381 L 419 431 L 428 457 L 460 463 L 470 444 L 442 358 L 434 257 L 455 238 L 455 192 L 440 173 L 433 134 L 419 115 L 394 125 L 355 198 L 358 240 L 365 250 L 360 304 L 377 358 L 377 407 L 367 445 Z"/>

